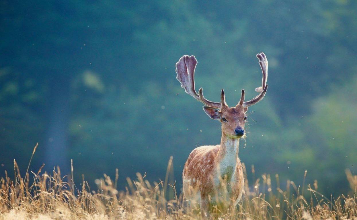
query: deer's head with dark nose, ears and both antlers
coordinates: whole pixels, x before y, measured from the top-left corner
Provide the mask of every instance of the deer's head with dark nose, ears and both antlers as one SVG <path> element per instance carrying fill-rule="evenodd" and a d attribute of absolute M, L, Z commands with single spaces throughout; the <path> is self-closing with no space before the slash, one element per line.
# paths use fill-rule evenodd
<path fill-rule="evenodd" d="M 228 107 L 223 89 L 221 90 L 221 102 L 216 103 L 207 100 L 203 96 L 202 88 L 195 89 L 195 68 L 197 60 L 195 56 L 182 56 L 176 63 L 177 80 L 180 81 L 181 87 L 187 94 L 205 104 L 203 110 L 211 119 L 217 119 L 222 122 L 222 133 L 231 138 L 240 138 L 244 133 L 244 126 L 247 119 L 246 112 L 248 107 L 255 105 L 262 100 L 268 89 L 266 84 L 268 79 L 268 60 L 263 52 L 257 54 L 259 64 L 262 69 L 263 78 L 262 86 L 255 89 L 260 94 L 249 101 L 244 101 L 245 92 L 242 89 L 242 95 L 239 103 L 235 107 Z"/>

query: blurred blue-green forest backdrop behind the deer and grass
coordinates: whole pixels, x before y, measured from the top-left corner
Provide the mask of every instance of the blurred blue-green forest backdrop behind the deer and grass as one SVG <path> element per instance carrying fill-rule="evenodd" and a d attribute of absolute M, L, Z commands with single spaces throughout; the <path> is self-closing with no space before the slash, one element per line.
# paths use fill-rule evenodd
<path fill-rule="evenodd" d="M 176 80 L 195 55 L 196 88 L 235 105 L 261 84 L 239 156 L 248 179 L 279 174 L 323 193 L 346 193 L 357 166 L 357 1 L 0 0 L 0 172 L 103 173 L 164 179 L 200 145 L 220 142 L 220 122 Z M 255 166 L 255 174 L 250 172 Z"/>

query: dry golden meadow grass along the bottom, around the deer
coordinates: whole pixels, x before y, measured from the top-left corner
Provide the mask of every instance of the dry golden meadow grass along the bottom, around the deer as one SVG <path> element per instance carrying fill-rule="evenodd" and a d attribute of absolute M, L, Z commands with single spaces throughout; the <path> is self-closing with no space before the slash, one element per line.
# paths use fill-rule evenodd
<path fill-rule="evenodd" d="M 35 152 L 35 151 L 34 151 Z M 34 153 L 33 152 L 33 153 Z M 171 164 L 171 162 L 169 163 Z M 168 172 L 170 171 L 168 167 Z M 128 187 L 123 192 L 116 190 L 115 180 L 109 176 L 96 180 L 98 190 L 91 191 L 85 180 L 81 189 L 73 183 L 66 183 L 61 178 L 60 170 L 52 173 L 26 173 L 21 178 L 19 168 L 14 161 L 15 181 L 5 172 L 0 178 L 0 220 L 12 219 L 201 219 L 200 209 L 195 201 L 182 199 L 176 184 L 166 181 L 149 183 L 145 175 L 137 173 L 137 180 L 127 179 Z M 355 192 L 357 176 L 346 171 L 351 189 Z M 305 174 L 306 175 L 306 174 Z M 30 176 L 33 181 L 30 181 Z M 336 200 L 328 199 L 317 192 L 317 183 L 313 189 L 307 186 L 309 198 L 303 197 L 303 187 L 297 187 L 288 181 L 285 190 L 279 186 L 272 189 L 270 175 L 263 175 L 251 187 L 246 182 L 245 196 L 236 207 L 224 203 L 211 208 L 211 219 L 243 220 L 315 220 L 342 219 L 357 220 L 356 197 L 341 195 Z M 275 181 L 275 180 L 274 180 Z M 33 182 L 33 184 L 29 184 Z M 305 192 L 306 193 L 306 192 Z M 169 198 L 170 197 L 170 198 Z M 169 199 L 167 199 L 169 198 Z"/>

